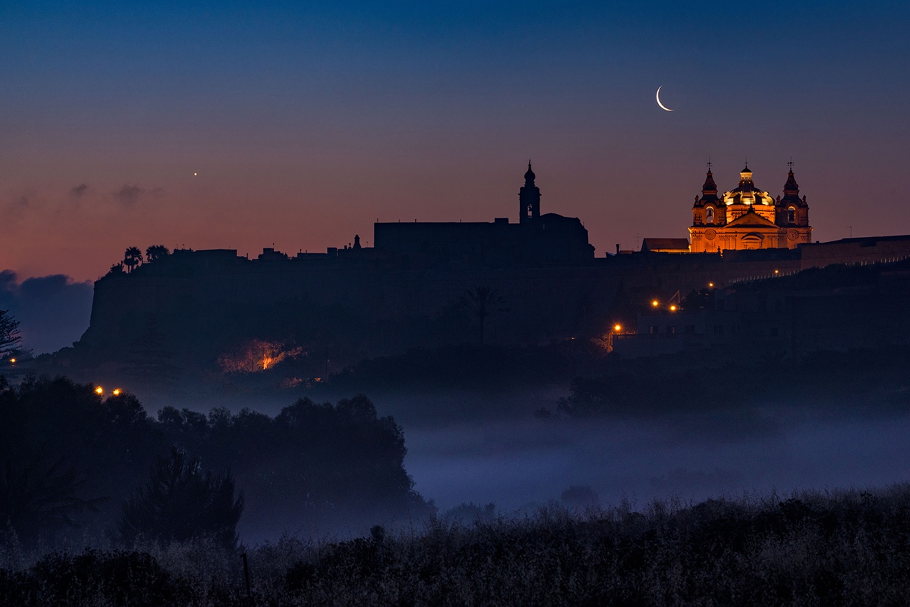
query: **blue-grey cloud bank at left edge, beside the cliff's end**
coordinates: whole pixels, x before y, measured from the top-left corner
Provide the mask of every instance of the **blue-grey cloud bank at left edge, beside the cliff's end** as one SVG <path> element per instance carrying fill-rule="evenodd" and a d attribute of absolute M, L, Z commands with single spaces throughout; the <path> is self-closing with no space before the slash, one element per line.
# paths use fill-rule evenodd
<path fill-rule="evenodd" d="M 88 328 L 92 284 L 64 274 L 34 276 L 20 282 L 12 270 L 0 272 L 0 310 L 19 321 L 22 345 L 35 354 L 72 345 Z"/>

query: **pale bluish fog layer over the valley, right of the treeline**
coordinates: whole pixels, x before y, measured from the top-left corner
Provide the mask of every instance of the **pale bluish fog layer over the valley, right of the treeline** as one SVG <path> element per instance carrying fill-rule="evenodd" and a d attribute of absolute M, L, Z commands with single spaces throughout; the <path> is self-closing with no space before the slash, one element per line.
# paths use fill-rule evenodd
<path fill-rule="evenodd" d="M 530 419 L 405 432 L 415 489 L 443 510 L 493 502 L 508 512 L 558 499 L 571 485 L 589 485 L 602 505 L 643 507 L 673 496 L 882 487 L 910 477 L 910 416 Z"/>

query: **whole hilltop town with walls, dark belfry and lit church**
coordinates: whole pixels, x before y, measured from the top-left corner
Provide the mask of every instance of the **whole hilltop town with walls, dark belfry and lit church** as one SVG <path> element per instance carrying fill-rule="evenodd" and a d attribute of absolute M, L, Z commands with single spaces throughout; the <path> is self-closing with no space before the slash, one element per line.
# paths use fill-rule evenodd
<path fill-rule="evenodd" d="M 798 358 L 907 340 L 895 308 L 905 298 L 893 296 L 907 291 L 905 270 L 881 264 L 910 256 L 910 236 L 810 242 L 792 164 L 783 197 L 759 189 L 748 166 L 718 195 L 709 164 L 691 243 L 645 238 L 641 251 L 617 246 L 600 256 L 579 218 L 541 213 L 535 182 L 529 162 L 517 222 L 376 223 L 372 247 L 359 235 L 325 253 L 265 248 L 256 259 L 161 245 L 143 259 L 130 247 L 96 281 L 86 333 L 52 364 L 129 363 L 152 381 L 187 366 L 266 369 L 301 350 L 319 353 L 319 374 L 328 375 L 369 357 L 457 343 L 607 337 L 608 349 L 627 357 Z M 810 286 L 792 276 L 835 264 L 876 269 L 854 275 L 849 291 L 837 282 L 843 274 Z"/>

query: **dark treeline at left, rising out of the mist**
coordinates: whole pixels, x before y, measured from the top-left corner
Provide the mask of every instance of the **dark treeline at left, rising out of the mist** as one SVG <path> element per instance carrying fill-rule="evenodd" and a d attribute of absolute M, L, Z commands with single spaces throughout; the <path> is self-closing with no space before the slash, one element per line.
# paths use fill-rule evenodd
<path fill-rule="evenodd" d="M 129 539 L 128 515 L 158 516 L 142 503 L 165 499 L 150 493 L 156 483 L 203 496 L 195 503 L 220 499 L 227 518 L 239 504 L 247 528 L 269 533 L 420 516 L 428 505 L 412 490 L 405 453 L 400 427 L 362 395 L 335 405 L 301 399 L 274 418 L 165 407 L 155 419 L 128 393 L 103 397 L 62 377 L 14 386 L 0 376 L 0 540 Z M 187 499 L 175 493 L 158 510 L 201 509 Z M 229 530 L 222 535 L 232 543 Z"/>

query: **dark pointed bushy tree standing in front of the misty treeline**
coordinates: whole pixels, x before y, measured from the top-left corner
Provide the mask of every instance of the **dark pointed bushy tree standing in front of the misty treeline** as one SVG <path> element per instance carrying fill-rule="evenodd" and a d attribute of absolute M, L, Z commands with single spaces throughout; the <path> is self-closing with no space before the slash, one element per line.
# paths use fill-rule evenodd
<path fill-rule="evenodd" d="M 147 485 L 123 504 L 117 530 L 127 544 L 211 537 L 233 550 L 243 506 L 243 493 L 234 499 L 229 472 L 203 473 L 197 457 L 172 447 L 169 457 L 158 458 Z"/>

